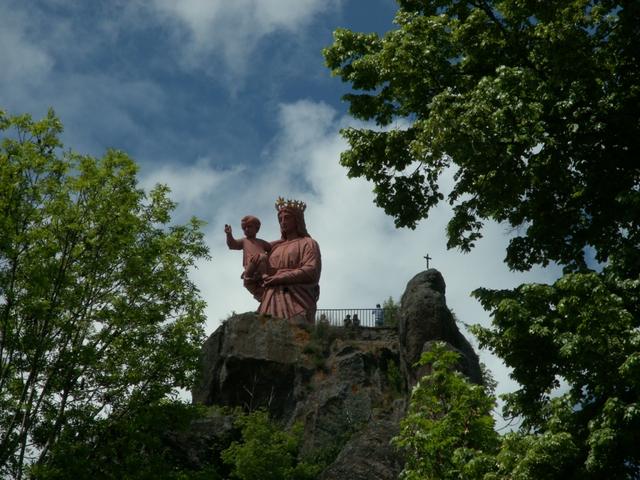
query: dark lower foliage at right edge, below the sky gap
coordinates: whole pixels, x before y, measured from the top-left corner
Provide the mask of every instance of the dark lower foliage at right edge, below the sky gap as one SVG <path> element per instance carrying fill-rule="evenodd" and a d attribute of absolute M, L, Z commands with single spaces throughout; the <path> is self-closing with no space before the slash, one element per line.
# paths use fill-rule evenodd
<path fill-rule="evenodd" d="M 636 478 L 640 280 L 610 266 L 475 295 L 492 310 L 493 328 L 474 332 L 521 385 L 507 396 L 507 412 L 528 431 L 568 436 L 576 478 Z"/>

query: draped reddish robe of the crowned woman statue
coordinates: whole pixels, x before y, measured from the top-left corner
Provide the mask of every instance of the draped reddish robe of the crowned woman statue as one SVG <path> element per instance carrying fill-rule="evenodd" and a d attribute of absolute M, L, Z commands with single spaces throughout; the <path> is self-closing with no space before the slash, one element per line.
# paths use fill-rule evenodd
<path fill-rule="evenodd" d="M 278 285 L 264 289 L 258 311 L 278 318 L 301 316 L 313 323 L 321 266 L 320 247 L 311 237 L 276 244 L 269 253 L 268 271 L 276 272 Z"/>

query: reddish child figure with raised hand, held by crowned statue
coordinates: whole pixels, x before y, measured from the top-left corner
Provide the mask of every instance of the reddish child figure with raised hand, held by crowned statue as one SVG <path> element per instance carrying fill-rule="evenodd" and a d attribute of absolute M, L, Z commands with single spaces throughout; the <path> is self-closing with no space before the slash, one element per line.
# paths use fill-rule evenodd
<path fill-rule="evenodd" d="M 271 251 L 272 244 L 261 238 L 256 238 L 260 230 L 260 220 L 253 215 L 247 215 L 240 220 L 240 227 L 244 232 L 244 238 L 235 239 L 231 231 L 231 225 L 224 226 L 227 235 L 227 246 L 231 250 L 242 250 L 242 266 L 244 271 L 240 278 L 244 287 L 253 297 L 260 301 L 263 288 L 262 277 L 267 273 L 267 254 Z"/>

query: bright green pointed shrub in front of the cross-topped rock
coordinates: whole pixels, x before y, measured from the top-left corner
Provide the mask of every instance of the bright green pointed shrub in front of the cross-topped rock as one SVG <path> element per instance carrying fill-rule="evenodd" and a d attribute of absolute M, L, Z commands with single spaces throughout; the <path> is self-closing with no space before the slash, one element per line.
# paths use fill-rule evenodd
<path fill-rule="evenodd" d="M 446 344 L 435 343 L 418 362 L 429 365 L 430 373 L 413 388 L 393 439 L 407 454 L 404 480 L 469 478 L 472 470 L 477 475 L 492 464 L 499 444 L 491 416 L 495 398 L 455 370 L 458 359 Z"/>

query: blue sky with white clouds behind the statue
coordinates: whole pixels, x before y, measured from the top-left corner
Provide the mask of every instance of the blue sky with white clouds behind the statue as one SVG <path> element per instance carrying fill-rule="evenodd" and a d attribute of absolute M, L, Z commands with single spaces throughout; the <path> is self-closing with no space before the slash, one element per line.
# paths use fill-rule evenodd
<path fill-rule="evenodd" d="M 355 122 L 340 100 L 347 86 L 330 76 L 321 50 L 338 27 L 393 28 L 395 11 L 393 0 L 0 0 L 0 108 L 41 117 L 53 107 L 66 148 L 126 151 L 144 187 L 171 187 L 176 221 L 207 222 L 213 258 L 193 274 L 208 303 L 207 333 L 256 307 L 224 224 L 239 236 L 240 218 L 254 214 L 259 236 L 276 239 L 279 195 L 308 204 L 323 256 L 320 307 L 398 300 L 429 253 L 458 318 L 486 325 L 471 290 L 551 282 L 557 269 L 509 272 L 508 230 L 496 224 L 472 253 L 447 251 L 446 205 L 416 230 L 396 230 L 373 205 L 371 185 L 347 180 L 338 164 L 346 146 L 338 130 Z M 446 191 L 451 172 L 442 182 Z M 481 357 L 499 391 L 511 389 L 500 363 Z"/>

